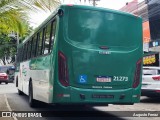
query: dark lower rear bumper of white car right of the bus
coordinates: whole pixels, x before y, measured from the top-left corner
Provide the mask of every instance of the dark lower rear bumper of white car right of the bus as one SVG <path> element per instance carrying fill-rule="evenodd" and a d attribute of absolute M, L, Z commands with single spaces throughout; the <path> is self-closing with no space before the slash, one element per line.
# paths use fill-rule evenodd
<path fill-rule="evenodd" d="M 160 96 L 160 90 L 142 89 L 141 95 L 142 96 Z"/>

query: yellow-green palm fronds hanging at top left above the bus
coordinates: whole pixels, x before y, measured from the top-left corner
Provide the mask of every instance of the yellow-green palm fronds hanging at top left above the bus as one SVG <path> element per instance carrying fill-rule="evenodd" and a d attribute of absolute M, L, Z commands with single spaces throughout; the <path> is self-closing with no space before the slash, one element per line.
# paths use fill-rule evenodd
<path fill-rule="evenodd" d="M 21 21 L 28 22 L 30 11 L 52 11 L 59 4 L 59 0 L 0 0 L 0 31 L 8 33 L 12 30 L 24 35 L 26 29 L 22 28 Z"/>

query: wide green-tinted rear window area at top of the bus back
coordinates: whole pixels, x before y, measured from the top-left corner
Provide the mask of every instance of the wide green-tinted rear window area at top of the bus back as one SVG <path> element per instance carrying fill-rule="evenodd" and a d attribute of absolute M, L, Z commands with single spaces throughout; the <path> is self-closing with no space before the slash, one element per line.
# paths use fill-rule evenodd
<path fill-rule="evenodd" d="M 70 8 L 66 36 L 83 44 L 136 46 L 142 37 L 138 22 L 129 15 Z"/>

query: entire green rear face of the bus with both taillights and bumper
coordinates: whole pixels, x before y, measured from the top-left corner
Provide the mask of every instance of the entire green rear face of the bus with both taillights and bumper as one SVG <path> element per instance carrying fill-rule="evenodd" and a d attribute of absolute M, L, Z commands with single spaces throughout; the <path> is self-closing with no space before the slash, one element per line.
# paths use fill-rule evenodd
<path fill-rule="evenodd" d="M 139 102 L 142 20 L 113 10 L 62 6 L 54 102 Z"/>

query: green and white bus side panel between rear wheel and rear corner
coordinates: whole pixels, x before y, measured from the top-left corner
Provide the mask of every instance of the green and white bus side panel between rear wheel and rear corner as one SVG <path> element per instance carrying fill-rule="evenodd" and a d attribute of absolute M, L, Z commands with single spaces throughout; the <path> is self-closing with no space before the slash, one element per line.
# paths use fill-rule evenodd
<path fill-rule="evenodd" d="M 50 55 L 40 56 L 36 58 L 36 62 L 30 62 L 35 98 L 47 103 L 49 102 L 50 59 Z"/>

